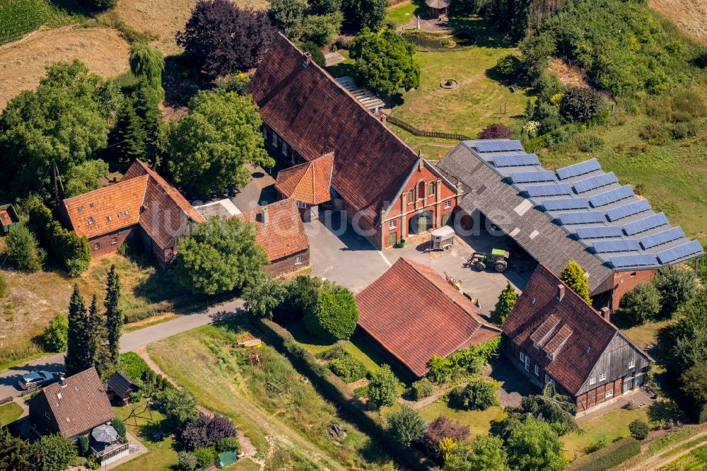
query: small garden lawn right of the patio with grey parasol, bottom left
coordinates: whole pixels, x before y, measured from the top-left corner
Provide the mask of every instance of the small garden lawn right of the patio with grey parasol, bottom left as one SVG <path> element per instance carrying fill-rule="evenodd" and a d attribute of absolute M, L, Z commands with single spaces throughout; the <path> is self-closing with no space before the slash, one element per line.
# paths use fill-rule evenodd
<path fill-rule="evenodd" d="M 137 425 L 135 425 L 134 419 L 126 421 L 133 407 L 135 406 L 113 407 L 113 410 L 115 411 L 115 417 L 125 422 L 127 431 L 141 441 L 148 449 L 148 453 L 119 465 L 115 468 L 115 471 L 173 470 L 174 465 L 177 464 L 177 452 L 174 449 L 174 439 L 171 436 L 167 436 L 161 441 L 157 441 L 154 438 L 157 432 L 163 434 L 170 432 L 169 427 L 162 426 L 165 417 L 154 409 L 151 411 L 152 419 L 148 417 L 148 412 L 141 412 L 141 414 L 139 414 L 141 417 L 136 419 Z M 142 408 L 139 410 L 141 411 Z"/>

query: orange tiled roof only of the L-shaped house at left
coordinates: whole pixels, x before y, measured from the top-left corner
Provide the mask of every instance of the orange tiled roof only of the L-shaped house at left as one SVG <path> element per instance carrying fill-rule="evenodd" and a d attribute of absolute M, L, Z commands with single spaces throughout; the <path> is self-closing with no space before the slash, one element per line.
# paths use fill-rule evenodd
<path fill-rule="evenodd" d="M 136 160 L 115 185 L 64 199 L 76 233 L 93 238 L 139 223 L 160 248 L 172 247 L 196 209 L 144 162 Z"/>

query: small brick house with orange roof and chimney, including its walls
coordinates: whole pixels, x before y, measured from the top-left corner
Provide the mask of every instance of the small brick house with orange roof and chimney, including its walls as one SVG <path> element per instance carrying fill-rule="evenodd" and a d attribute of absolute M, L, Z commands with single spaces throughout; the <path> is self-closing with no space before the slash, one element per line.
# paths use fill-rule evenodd
<path fill-rule="evenodd" d="M 265 271 L 274 277 L 309 267 L 310 244 L 293 199 L 283 199 L 233 216 L 255 224 L 256 241 L 270 264 Z"/>

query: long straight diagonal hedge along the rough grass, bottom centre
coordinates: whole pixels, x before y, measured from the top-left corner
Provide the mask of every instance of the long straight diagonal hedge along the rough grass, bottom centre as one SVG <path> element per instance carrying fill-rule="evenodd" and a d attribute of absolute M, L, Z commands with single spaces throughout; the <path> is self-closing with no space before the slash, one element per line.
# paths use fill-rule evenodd
<path fill-rule="evenodd" d="M 262 330 L 269 344 L 283 351 L 293 364 L 300 368 L 300 372 L 322 390 L 327 399 L 341 406 L 347 412 L 349 419 L 356 421 L 356 424 L 386 448 L 390 455 L 405 460 L 412 470 L 429 469 L 426 458 L 418 450 L 399 446 L 390 436 L 385 424 L 378 418 L 378 414 L 366 409 L 349 385 L 325 366 L 317 364 L 315 356 L 301 347 L 290 332 L 271 320 L 255 316 L 252 319 Z"/>

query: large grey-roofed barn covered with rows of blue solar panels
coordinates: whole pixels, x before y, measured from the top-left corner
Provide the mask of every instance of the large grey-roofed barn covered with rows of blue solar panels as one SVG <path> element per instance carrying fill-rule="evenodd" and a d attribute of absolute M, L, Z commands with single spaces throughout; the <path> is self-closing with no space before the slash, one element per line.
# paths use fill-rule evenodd
<path fill-rule="evenodd" d="M 615 310 L 655 269 L 704 253 L 594 158 L 546 170 L 520 141 L 487 139 L 462 141 L 437 168 L 462 185 L 460 227 L 486 218 L 555 274 L 574 260 L 595 306 Z"/>

